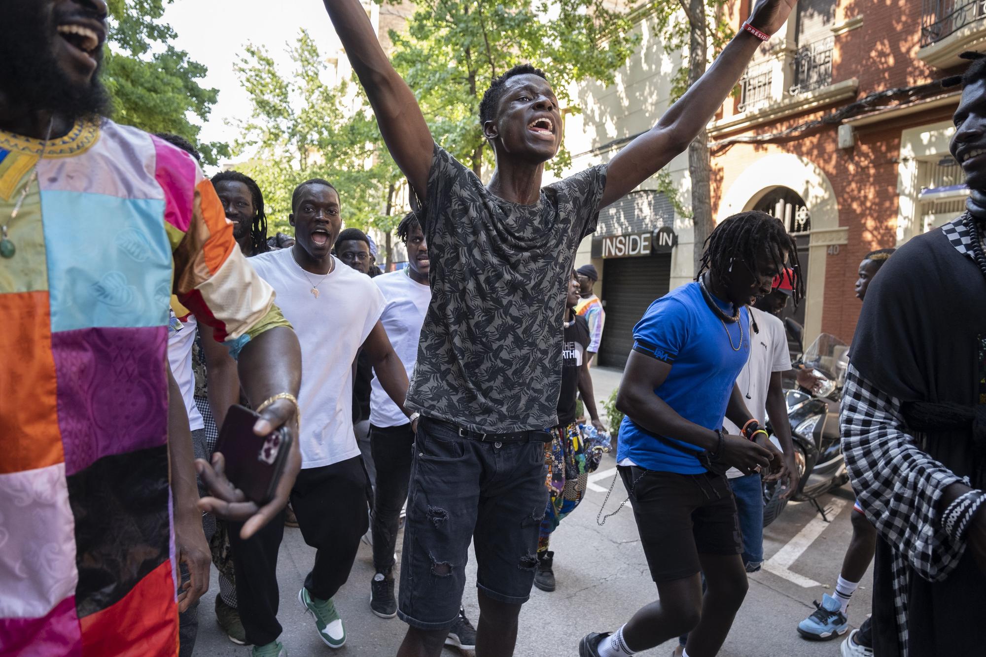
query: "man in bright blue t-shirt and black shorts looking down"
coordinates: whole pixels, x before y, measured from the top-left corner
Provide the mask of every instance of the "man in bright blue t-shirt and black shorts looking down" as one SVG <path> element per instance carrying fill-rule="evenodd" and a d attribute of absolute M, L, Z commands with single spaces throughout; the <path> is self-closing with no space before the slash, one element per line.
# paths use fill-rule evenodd
<path fill-rule="evenodd" d="M 747 586 L 726 472 L 788 476 L 736 384 L 750 351 L 745 305 L 770 294 L 789 258 L 797 304 L 803 276 L 784 225 L 764 212 L 733 215 L 709 236 L 696 282 L 655 301 L 634 327 L 616 396 L 626 414 L 616 462 L 660 601 L 615 632 L 587 635 L 580 657 L 632 655 L 684 632 L 682 655 L 712 657 L 726 640 Z M 741 435 L 724 432 L 727 416 Z"/>

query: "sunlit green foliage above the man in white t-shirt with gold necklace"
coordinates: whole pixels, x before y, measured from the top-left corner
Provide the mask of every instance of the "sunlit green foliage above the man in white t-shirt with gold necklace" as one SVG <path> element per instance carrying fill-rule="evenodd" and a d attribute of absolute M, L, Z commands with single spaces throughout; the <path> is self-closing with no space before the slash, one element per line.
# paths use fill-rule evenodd
<path fill-rule="evenodd" d="M 263 189 L 272 229 L 292 232 L 295 185 L 322 178 L 339 190 L 347 226 L 389 233 L 399 220 L 391 206 L 403 177 L 383 148 L 369 102 L 358 84 L 329 79 L 333 71 L 307 31 L 288 52 L 293 66 L 287 74 L 255 45 L 247 45 L 236 64 L 252 105 L 234 144 L 238 155 L 252 159 L 238 169 Z"/>

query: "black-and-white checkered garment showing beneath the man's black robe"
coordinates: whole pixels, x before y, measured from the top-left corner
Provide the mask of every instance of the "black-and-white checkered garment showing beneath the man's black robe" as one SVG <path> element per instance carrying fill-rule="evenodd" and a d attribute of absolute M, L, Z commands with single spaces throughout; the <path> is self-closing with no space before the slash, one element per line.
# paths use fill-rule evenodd
<path fill-rule="evenodd" d="M 976 261 L 973 238 L 961 217 L 942 231 L 958 253 Z M 897 636 L 901 655 L 908 657 L 907 568 L 936 582 L 958 565 L 965 543 L 952 543 L 941 526 L 944 509 L 938 507 L 945 489 L 963 479 L 918 448 L 917 438 L 905 428 L 900 401 L 878 390 L 851 363 L 839 425 L 853 490 L 867 518 L 894 548 Z"/>

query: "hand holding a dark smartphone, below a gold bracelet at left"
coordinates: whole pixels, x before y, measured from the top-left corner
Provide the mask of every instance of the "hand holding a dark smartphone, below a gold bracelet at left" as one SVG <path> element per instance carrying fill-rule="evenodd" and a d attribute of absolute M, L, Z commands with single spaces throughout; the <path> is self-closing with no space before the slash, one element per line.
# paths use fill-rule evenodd
<path fill-rule="evenodd" d="M 260 413 L 260 419 L 253 425 L 253 433 L 266 436 L 275 428 L 286 424 L 294 417 L 295 405 L 291 401 L 279 400 L 270 404 Z M 212 492 L 212 497 L 203 497 L 198 501 L 202 511 L 214 513 L 218 518 L 233 522 L 244 523 L 240 538 L 250 538 L 260 528 L 270 522 L 288 503 L 291 488 L 302 467 L 302 454 L 297 439 L 291 441 L 291 452 L 288 455 L 288 465 L 281 480 L 277 483 L 274 498 L 263 506 L 246 499 L 244 491 L 237 488 L 226 477 L 226 459 L 217 452 L 212 455 L 212 464 L 203 459 L 195 460 L 195 470 L 202 477 L 203 483 Z"/>

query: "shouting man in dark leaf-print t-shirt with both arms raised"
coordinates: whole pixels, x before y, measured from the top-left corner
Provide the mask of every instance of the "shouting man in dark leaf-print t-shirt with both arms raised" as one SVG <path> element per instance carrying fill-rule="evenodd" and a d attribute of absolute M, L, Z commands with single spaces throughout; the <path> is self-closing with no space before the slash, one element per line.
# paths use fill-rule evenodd
<path fill-rule="evenodd" d="M 479 127 L 496 158 L 484 184 L 435 143 L 414 94 L 359 0 L 324 0 L 394 162 L 423 206 L 432 301 L 407 407 L 421 414 L 408 499 L 397 614 L 400 657 L 437 656 L 458 619 L 475 539 L 477 645 L 506 657 L 537 569 L 544 427 L 558 424 L 565 285 L 599 208 L 684 151 L 729 96 L 794 0 L 756 0 L 749 19 L 650 130 L 607 164 L 541 188 L 562 142 L 547 75 L 522 64 L 496 77 Z M 649 110 L 653 110 L 650 109 Z M 531 509 L 537 509 L 531 515 Z"/>

